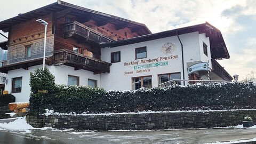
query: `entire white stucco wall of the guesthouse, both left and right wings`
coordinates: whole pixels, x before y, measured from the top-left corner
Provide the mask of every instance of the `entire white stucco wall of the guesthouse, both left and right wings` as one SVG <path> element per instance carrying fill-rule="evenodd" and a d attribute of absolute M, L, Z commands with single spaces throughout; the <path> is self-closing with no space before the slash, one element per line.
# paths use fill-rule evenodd
<path fill-rule="evenodd" d="M 187 63 L 191 62 L 208 62 L 211 68 L 211 52 L 209 38 L 205 34 L 198 34 L 198 32 L 179 35 L 183 44 L 185 79 L 188 79 Z M 167 43 L 173 43 L 176 50 L 172 53 L 164 53 L 162 46 Z M 208 57 L 203 53 L 203 42 L 206 43 L 208 50 Z M 147 47 L 147 58 L 135 59 L 135 48 Z M 69 66 L 47 66 L 51 73 L 55 76 L 57 84 L 67 84 L 68 75 L 78 76 L 79 85 L 87 86 L 88 78 L 97 80 L 97 86 L 103 87 L 105 90 L 132 90 L 132 77 L 151 76 L 152 86 L 158 86 L 158 75 L 167 73 L 182 74 L 182 55 L 181 44 L 177 36 L 155 39 L 152 41 L 135 43 L 130 45 L 123 45 L 118 47 L 105 47 L 101 49 L 101 60 L 111 62 L 111 52 L 121 51 L 121 62 L 112 63 L 110 66 L 110 73 L 102 73 L 94 75 L 92 71 L 74 70 L 74 67 Z M 177 56 L 176 56 L 177 55 Z M 171 57 L 171 59 L 163 58 Z M 155 59 L 154 62 L 141 62 L 143 60 Z M 124 66 L 124 63 L 138 62 L 135 65 Z M 156 62 L 167 62 L 165 66 L 148 67 L 141 69 L 134 69 L 134 66 L 147 65 Z M 36 68 L 42 68 L 42 65 L 29 67 L 25 69 L 15 69 L 8 71 L 8 83 L 5 85 L 5 90 L 11 93 L 12 78 L 22 76 L 22 90 L 20 93 L 13 93 L 17 102 L 28 101 L 30 95 L 29 73 Z M 143 71 L 150 69 L 150 71 Z M 138 73 L 141 70 L 141 73 Z M 132 74 L 125 74 L 125 72 L 132 72 Z M 187 83 L 186 83 L 187 84 Z"/>

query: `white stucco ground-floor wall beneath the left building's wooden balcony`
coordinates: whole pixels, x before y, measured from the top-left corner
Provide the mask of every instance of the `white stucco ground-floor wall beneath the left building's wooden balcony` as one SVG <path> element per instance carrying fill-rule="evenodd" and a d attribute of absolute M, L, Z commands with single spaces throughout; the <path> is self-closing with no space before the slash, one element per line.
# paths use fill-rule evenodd
<path fill-rule="evenodd" d="M 7 79 L 8 83 L 5 84 L 5 90 L 15 96 L 16 102 L 29 101 L 30 86 L 29 77 L 30 72 L 34 72 L 37 68 L 42 68 L 42 65 L 29 67 L 25 69 L 15 69 L 8 71 Z M 55 76 L 55 83 L 68 84 L 68 75 L 74 75 L 79 77 L 79 85 L 87 86 L 88 78 L 97 80 L 97 86 L 100 86 L 100 74 L 94 75 L 92 71 L 87 70 L 74 70 L 69 66 L 46 66 L 50 72 Z M 21 92 L 12 93 L 12 78 L 22 77 Z"/>

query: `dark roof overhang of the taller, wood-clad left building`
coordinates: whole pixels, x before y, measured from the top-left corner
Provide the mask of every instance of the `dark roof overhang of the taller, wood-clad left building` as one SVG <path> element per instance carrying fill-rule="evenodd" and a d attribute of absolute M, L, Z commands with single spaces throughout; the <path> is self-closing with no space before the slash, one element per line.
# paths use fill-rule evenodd
<path fill-rule="evenodd" d="M 145 24 L 123 19 L 120 17 L 116 17 L 114 15 L 86 9 L 81 6 L 69 4 L 62 1 L 57 1 L 55 3 L 46 5 L 44 7 L 41 7 L 39 9 L 19 14 L 16 17 L 4 20 L 0 22 L 0 30 L 3 30 L 4 32 L 9 31 L 9 27 L 13 25 L 17 25 L 18 23 L 25 22 L 28 20 L 32 20 L 35 18 L 42 17 L 43 15 L 60 12 L 60 11 L 67 11 L 70 14 L 79 15 L 80 17 L 84 18 L 93 18 L 97 19 L 99 22 L 113 22 L 118 23 L 119 26 L 129 26 L 133 29 L 141 29 L 143 30 L 144 34 L 151 34 L 151 31 L 146 27 Z"/>

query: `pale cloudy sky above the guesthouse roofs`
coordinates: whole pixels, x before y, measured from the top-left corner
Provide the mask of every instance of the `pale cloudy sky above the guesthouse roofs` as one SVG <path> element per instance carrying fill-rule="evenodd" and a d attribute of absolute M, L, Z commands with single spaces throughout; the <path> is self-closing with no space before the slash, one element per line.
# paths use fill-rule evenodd
<path fill-rule="evenodd" d="M 64 0 L 125 19 L 145 23 L 152 33 L 204 23 L 217 27 L 225 40 L 230 59 L 218 60 L 239 80 L 256 71 L 256 1 L 254 0 Z M 0 21 L 9 19 L 53 0 L 0 0 Z M 1 31 L 3 34 L 3 32 Z M 7 35 L 7 33 L 4 33 Z M 0 36 L 0 42 L 6 41 Z"/>

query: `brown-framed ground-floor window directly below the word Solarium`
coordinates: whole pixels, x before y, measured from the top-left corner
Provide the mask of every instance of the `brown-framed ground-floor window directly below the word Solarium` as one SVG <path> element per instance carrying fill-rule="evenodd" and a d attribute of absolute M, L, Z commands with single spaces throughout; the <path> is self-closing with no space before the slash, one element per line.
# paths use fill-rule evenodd
<path fill-rule="evenodd" d="M 152 88 L 152 76 L 133 77 L 132 90 L 138 90 L 141 87 Z"/>

